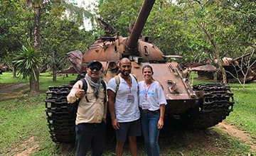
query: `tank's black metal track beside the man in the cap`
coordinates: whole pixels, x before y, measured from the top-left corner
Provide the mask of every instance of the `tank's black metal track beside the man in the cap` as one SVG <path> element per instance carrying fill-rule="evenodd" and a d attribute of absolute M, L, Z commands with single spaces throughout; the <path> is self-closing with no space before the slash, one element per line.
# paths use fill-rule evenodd
<path fill-rule="evenodd" d="M 75 117 L 68 116 L 67 96 L 73 86 L 52 86 L 46 91 L 46 116 L 55 143 L 75 141 Z"/>

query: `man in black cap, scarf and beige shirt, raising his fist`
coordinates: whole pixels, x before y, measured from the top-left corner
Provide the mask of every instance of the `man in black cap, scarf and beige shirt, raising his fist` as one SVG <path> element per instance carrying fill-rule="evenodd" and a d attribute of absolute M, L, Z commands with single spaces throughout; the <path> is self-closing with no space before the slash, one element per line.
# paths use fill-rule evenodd
<path fill-rule="evenodd" d="M 73 104 L 80 99 L 78 113 L 75 120 L 75 155 L 85 156 L 92 148 L 91 155 L 102 155 L 106 134 L 107 101 L 102 87 L 100 69 L 102 64 L 97 61 L 89 62 L 85 82 L 87 91 L 82 89 L 82 81 L 79 80 L 68 94 L 68 102 Z M 106 82 L 104 82 L 106 84 Z M 87 95 L 85 98 L 85 94 Z"/>

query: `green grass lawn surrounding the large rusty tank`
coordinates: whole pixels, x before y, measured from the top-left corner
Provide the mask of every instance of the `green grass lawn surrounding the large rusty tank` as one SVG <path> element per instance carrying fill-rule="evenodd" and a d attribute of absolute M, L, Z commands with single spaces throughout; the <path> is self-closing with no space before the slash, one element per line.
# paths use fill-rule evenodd
<path fill-rule="evenodd" d="M 74 145 L 57 145 L 50 139 L 45 113 L 46 89 L 48 86 L 69 84 L 76 75 L 58 77 L 58 82 L 52 82 L 50 74 L 40 76 L 41 94 L 28 96 L 29 84 L 9 93 L 0 93 L 0 155 L 16 155 L 28 152 L 30 155 L 74 155 Z M 202 82 L 196 81 L 193 84 Z M 0 77 L 1 84 L 23 83 L 28 80 L 12 78 L 12 74 L 4 72 Z M 256 83 L 246 84 L 245 89 L 240 84 L 229 84 L 233 91 L 234 111 L 226 118 L 226 122 L 245 130 L 256 138 Z M 166 124 L 159 137 L 161 155 L 248 155 L 256 154 L 250 151 L 250 146 L 218 133 L 214 128 L 206 130 L 176 130 Z M 104 155 L 114 153 L 114 135 L 107 137 Z M 130 155 L 126 143 L 124 155 Z M 143 138 L 138 138 L 139 155 L 146 155 Z"/>

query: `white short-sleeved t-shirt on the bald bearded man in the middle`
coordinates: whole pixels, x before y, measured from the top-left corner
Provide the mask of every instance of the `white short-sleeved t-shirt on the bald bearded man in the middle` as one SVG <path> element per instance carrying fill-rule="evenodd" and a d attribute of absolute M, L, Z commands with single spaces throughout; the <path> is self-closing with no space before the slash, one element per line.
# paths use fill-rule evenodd
<path fill-rule="evenodd" d="M 136 121 L 140 117 L 138 103 L 138 82 L 134 76 L 132 76 L 132 74 L 129 75 L 132 78 L 131 93 L 129 84 L 127 84 L 127 82 L 120 77 L 120 74 L 118 75 L 120 84 L 115 97 L 114 109 L 117 121 L 119 123 Z M 116 88 L 117 82 L 113 77 L 110 79 L 110 82 L 108 82 L 107 89 L 110 89 L 116 93 Z"/>

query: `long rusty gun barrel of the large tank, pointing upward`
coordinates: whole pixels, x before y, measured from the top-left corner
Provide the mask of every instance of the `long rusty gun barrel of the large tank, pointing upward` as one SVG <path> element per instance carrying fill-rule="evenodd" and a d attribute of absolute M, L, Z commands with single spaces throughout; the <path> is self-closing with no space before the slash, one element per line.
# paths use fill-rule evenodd
<path fill-rule="evenodd" d="M 136 48 L 139 40 L 139 35 L 142 33 L 142 29 L 145 26 L 146 20 L 149 17 L 149 13 L 154 6 L 155 0 L 144 0 L 144 4 L 142 6 L 141 11 L 139 12 L 139 16 L 137 21 L 132 29 L 132 33 L 127 40 L 127 46 L 129 48 Z"/>

